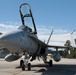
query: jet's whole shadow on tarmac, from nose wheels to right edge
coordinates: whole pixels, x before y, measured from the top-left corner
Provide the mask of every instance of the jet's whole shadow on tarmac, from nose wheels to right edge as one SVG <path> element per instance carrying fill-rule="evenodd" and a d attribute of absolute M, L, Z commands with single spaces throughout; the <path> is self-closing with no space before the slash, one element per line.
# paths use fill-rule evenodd
<path fill-rule="evenodd" d="M 40 72 L 41 75 L 76 75 L 76 65 L 54 64 L 53 67 L 49 67 L 48 64 L 36 64 L 31 67 L 33 68 L 31 71 Z"/>

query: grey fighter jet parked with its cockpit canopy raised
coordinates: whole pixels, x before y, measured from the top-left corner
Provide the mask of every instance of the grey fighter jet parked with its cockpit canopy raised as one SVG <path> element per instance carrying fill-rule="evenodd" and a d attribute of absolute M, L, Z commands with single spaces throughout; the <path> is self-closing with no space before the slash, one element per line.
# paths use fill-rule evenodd
<path fill-rule="evenodd" d="M 34 22 L 31 6 L 28 3 L 23 3 L 19 7 L 22 25 L 14 31 L 2 34 L 0 36 L 0 46 L 8 49 L 10 54 L 5 57 L 8 62 L 18 60 L 20 57 L 23 60 L 20 61 L 22 70 L 28 68 L 31 70 L 31 63 L 36 58 L 43 58 L 44 63 L 48 63 L 52 66 L 52 60 L 47 61 L 48 52 L 51 51 L 48 48 L 55 48 L 56 53 L 53 56 L 55 61 L 60 61 L 61 56 L 58 53 L 58 48 L 68 48 L 66 46 L 54 46 L 48 45 L 53 30 L 49 36 L 47 43 L 38 39 L 36 25 Z M 32 25 L 33 28 L 30 26 Z"/>

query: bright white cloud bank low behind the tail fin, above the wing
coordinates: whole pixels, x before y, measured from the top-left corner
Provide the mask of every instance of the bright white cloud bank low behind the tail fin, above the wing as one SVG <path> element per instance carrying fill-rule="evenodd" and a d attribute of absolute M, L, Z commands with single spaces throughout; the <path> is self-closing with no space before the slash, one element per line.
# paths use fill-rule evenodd
<path fill-rule="evenodd" d="M 39 34 L 38 36 L 41 40 L 46 41 L 46 42 L 49 38 L 49 35 L 45 35 L 45 34 L 43 35 Z M 68 34 L 54 34 L 51 36 L 49 44 L 50 45 L 64 45 L 66 40 L 71 40 L 71 36 L 69 33 Z"/>

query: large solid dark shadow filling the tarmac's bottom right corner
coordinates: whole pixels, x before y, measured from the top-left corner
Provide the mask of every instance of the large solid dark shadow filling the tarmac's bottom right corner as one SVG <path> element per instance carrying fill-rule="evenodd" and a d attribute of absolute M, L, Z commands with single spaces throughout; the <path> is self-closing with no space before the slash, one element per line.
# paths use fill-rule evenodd
<path fill-rule="evenodd" d="M 76 65 L 55 64 L 46 69 L 41 75 L 76 75 Z"/>

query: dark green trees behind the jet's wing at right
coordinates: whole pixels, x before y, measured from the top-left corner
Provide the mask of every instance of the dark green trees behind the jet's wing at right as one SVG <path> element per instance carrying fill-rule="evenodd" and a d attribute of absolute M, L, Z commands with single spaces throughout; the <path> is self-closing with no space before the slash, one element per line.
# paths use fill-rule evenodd
<path fill-rule="evenodd" d="M 76 58 L 76 49 L 72 48 L 70 40 L 67 40 L 64 46 L 68 46 L 69 49 L 60 50 L 60 55 L 63 58 Z"/>

